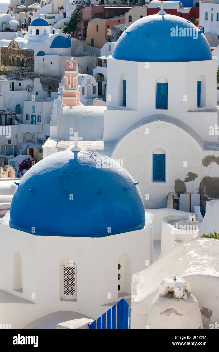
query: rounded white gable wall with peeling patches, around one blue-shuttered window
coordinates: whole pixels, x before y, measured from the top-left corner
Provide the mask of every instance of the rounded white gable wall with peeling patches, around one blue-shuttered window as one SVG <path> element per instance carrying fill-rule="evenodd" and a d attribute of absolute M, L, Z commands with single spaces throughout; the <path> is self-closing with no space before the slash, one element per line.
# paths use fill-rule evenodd
<path fill-rule="evenodd" d="M 106 112 L 109 111 L 104 111 L 104 113 Z M 116 115 L 118 128 L 121 126 L 122 112 L 118 111 L 119 114 Z M 124 111 L 124 117 L 125 114 L 127 117 L 127 111 Z M 111 112 L 110 116 L 112 124 L 114 123 L 114 114 Z M 125 119 L 122 122 L 124 121 Z M 209 124 L 208 121 L 208 126 Z M 148 134 L 146 134 L 146 128 L 148 128 Z M 158 147 L 164 149 L 168 154 L 165 182 L 152 181 L 152 154 L 153 150 Z M 203 150 L 202 148 L 204 149 L 191 134 L 181 127 L 167 121 L 159 121 L 159 118 L 157 118 L 157 121 L 143 123 L 140 127 L 136 126 L 124 136 L 117 143 L 111 157 L 113 159 L 123 159 L 124 168 L 133 175 L 136 182 L 139 181 L 145 208 L 153 209 L 166 206 L 169 192 L 199 193 L 199 186 L 204 177 L 218 177 L 217 163 L 210 162 L 204 166 L 204 160 L 208 155 L 212 155 L 212 158 L 215 155 L 217 158 L 219 151 Z M 195 178 L 193 181 L 185 182 L 188 172 L 192 172 Z M 182 190 L 181 187 L 178 187 L 179 182 L 182 184 Z M 211 191 L 215 192 L 213 189 Z M 209 197 L 213 197 L 211 191 L 209 193 L 206 189 L 206 194 Z M 204 199 L 206 194 L 205 192 L 202 194 Z"/>

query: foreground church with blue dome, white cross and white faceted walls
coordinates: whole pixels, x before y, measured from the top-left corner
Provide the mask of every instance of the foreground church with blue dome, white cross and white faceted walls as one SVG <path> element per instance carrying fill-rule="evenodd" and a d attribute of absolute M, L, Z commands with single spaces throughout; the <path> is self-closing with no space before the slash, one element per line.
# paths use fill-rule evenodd
<path fill-rule="evenodd" d="M 96 319 L 130 298 L 132 275 L 153 262 L 153 214 L 138 183 L 111 158 L 77 146 L 25 173 L 0 224 L 0 263 L 11 258 L 0 289 L 13 305 L 26 303 L 12 328 L 34 328 L 51 314 Z"/>

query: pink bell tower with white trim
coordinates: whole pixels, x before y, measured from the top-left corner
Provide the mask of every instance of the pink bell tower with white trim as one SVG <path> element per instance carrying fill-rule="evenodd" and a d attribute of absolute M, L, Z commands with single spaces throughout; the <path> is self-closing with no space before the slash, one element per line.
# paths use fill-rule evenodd
<path fill-rule="evenodd" d="M 78 86 L 77 61 L 66 61 L 65 64 L 65 87 L 63 88 L 63 104 L 79 106 L 80 93 Z"/>

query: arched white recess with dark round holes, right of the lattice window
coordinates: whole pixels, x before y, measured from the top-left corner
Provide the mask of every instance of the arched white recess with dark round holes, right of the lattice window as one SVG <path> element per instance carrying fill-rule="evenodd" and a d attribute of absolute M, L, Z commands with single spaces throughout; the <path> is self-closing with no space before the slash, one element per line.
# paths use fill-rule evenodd
<path fill-rule="evenodd" d="M 123 254 L 118 260 L 118 297 L 122 292 L 131 293 L 131 258 Z"/>

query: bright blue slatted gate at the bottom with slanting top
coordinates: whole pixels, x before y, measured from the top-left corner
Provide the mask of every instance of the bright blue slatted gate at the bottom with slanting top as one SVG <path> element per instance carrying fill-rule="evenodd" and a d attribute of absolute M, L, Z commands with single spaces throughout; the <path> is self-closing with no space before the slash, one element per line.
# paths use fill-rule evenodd
<path fill-rule="evenodd" d="M 117 307 L 116 307 L 117 306 Z M 131 308 L 128 303 L 122 298 L 117 305 L 110 308 L 107 313 L 104 313 L 92 323 L 89 323 L 90 330 L 96 329 L 130 329 L 131 323 Z"/>

